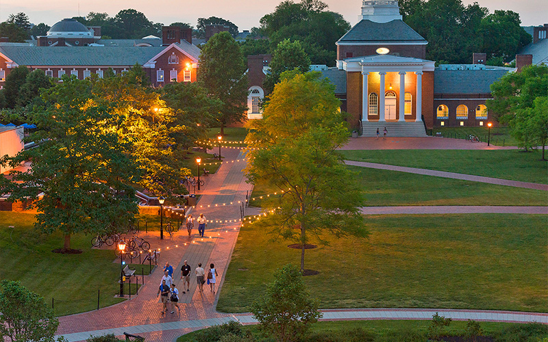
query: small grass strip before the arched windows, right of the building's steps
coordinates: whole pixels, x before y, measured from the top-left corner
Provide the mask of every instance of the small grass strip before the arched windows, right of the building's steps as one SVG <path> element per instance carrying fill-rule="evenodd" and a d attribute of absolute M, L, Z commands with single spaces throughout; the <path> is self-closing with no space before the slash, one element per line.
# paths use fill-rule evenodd
<path fill-rule="evenodd" d="M 436 135 L 440 132 L 443 137 L 452 137 L 456 139 L 466 139 L 469 135 L 473 134 L 479 137 L 482 142 L 488 140 L 488 129 L 485 127 L 438 127 L 435 129 L 428 129 L 429 135 Z M 495 146 L 518 146 L 517 140 L 510 135 L 509 127 L 491 127 L 490 143 Z"/>

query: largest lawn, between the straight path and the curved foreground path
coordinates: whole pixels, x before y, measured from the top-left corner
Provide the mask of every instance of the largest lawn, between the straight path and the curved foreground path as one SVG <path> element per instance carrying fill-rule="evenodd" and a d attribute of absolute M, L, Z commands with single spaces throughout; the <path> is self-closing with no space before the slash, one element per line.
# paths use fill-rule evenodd
<path fill-rule="evenodd" d="M 368 216 L 369 239 L 306 251 L 321 308 L 478 308 L 548 312 L 546 215 Z M 249 311 L 273 272 L 299 264 L 263 222 L 238 235 L 217 309 Z M 275 256 L 275 257 L 273 257 Z"/>

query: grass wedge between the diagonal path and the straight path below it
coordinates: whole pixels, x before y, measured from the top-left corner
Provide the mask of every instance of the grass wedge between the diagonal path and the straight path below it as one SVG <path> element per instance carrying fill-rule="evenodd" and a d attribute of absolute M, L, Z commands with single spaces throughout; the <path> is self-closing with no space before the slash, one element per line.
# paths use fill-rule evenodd
<path fill-rule="evenodd" d="M 547 205 L 548 192 L 349 166 L 362 184 L 368 207 L 391 205 Z M 256 185 L 249 205 L 277 189 Z M 253 200 L 254 198 L 254 200 Z"/>

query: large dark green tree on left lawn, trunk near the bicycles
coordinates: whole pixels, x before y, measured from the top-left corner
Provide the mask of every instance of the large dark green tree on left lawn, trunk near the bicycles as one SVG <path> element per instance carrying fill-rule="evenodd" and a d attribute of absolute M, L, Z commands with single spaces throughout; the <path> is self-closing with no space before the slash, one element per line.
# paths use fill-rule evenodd
<path fill-rule="evenodd" d="M 38 127 L 29 141 L 41 142 L 2 163 L 18 166 L 29 159 L 27 171 L 12 171 L 1 179 L 0 192 L 10 200 L 34 200 L 36 228 L 61 231 L 64 248 L 71 249 L 74 233 L 121 231 L 137 213 L 133 187 L 138 181 L 130 144 L 119 142 L 116 107 L 97 101 L 89 80 L 65 76 L 42 92 L 44 105 L 30 114 Z M 39 197 L 43 193 L 42 197 Z"/>

